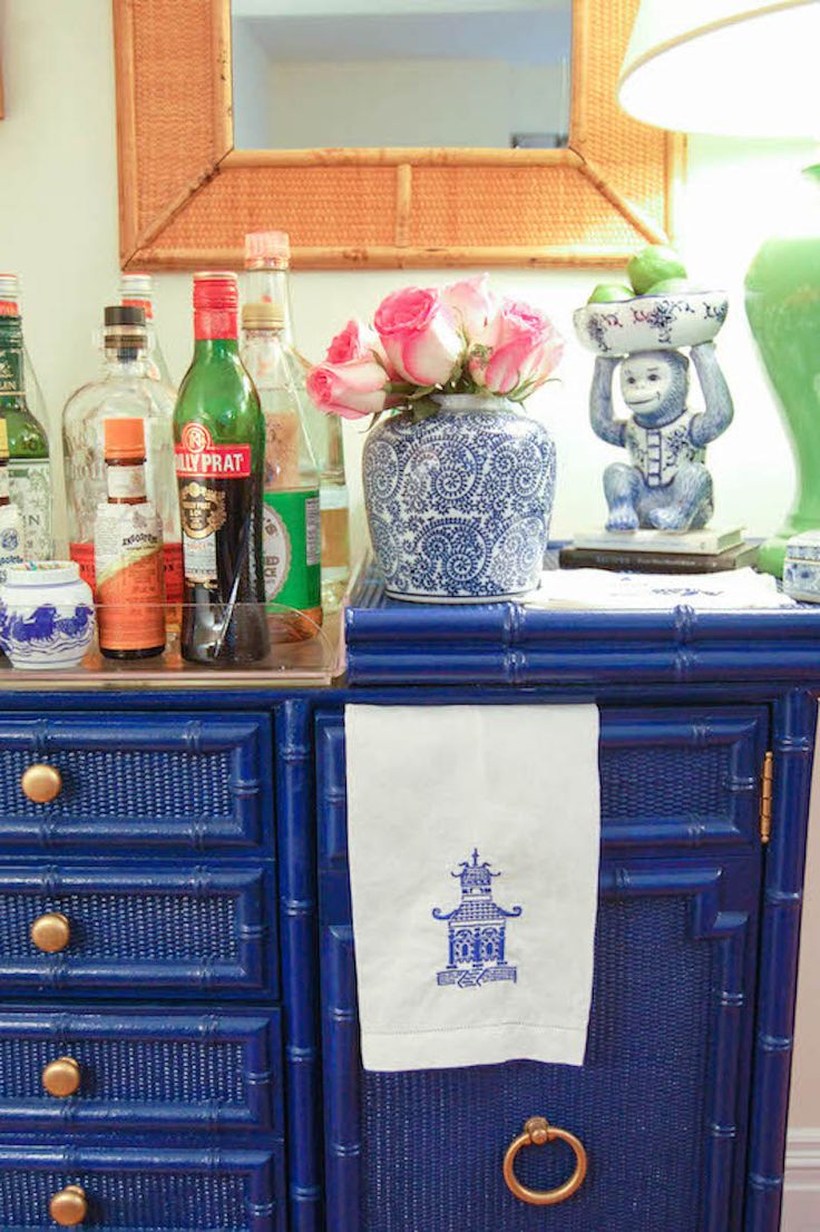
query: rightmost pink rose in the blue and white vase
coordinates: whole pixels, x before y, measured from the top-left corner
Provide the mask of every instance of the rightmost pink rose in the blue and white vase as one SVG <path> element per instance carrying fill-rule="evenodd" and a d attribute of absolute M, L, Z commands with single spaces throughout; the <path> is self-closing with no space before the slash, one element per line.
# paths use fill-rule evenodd
<path fill-rule="evenodd" d="M 557 367 L 562 354 L 564 339 L 549 317 L 504 299 L 487 344 L 470 356 L 470 373 L 490 393 L 530 393 Z"/>

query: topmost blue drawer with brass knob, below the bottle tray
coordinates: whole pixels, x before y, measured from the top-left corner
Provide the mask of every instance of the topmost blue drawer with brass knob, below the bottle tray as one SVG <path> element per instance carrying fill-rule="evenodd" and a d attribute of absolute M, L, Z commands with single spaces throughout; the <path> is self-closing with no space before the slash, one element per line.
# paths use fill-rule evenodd
<path fill-rule="evenodd" d="M 270 761 L 264 715 L 6 717 L 0 850 L 270 849 Z M 54 798 L 28 798 L 32 766 L 58 771 Z"/>

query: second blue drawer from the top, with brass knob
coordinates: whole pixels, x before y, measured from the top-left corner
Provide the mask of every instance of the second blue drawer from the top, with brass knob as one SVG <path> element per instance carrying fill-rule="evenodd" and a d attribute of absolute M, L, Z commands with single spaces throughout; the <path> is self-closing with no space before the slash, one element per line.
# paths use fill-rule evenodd
<path fill-rule="evenodd" d="M 275 944 L 266 869 L 0 865 L 5 994 L 275 994 Z"/>

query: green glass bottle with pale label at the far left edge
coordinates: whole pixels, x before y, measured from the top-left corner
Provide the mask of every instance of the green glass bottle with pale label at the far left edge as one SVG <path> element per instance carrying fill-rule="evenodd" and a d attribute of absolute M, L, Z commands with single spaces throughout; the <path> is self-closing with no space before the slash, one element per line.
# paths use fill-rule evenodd
<path fill-rule="evenodd" d="M 11 312 L 9 312 L 11 309 Z M 9 434 L 9 488 L 21 511 L 28 559 L 52 556 L 52 483 L 46 429 L 28 404 L 18 301 L 0 313 L 0 416 Z"/>

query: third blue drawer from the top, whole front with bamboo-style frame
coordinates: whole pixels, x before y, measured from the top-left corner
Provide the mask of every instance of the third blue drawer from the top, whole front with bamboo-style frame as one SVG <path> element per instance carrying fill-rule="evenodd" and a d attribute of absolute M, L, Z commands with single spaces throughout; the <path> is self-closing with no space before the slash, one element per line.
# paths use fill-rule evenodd
<path fill-rule="evenodd" d="M 67 1082 L 79 1083 L 74 1093 L 60 1093 Z M 281 1100 L 277 1009 L 0 1010 L 0 1130 L 59 1124 L 281 1136 Z"/>

